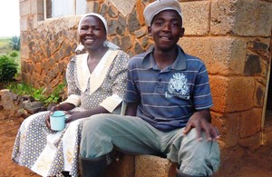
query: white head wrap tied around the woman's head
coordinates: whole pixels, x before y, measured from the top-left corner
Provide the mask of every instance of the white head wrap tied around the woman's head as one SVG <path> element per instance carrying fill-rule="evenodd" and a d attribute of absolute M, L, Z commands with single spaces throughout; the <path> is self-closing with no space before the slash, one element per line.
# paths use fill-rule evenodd
<path fill-rule="evenodd" d="M 82 23 L 83 23 L 83 19 L 84 19 L 86 16 L 96 16 L 96 17 L 98 17 L 98 18 L 102 21 L 102 23 L 103 23 L 103 25 L 104 25 L 104 27 L 105 27 L 106 35 L 108 35 L 108 25 L 107 25 L 107 21 L 105 20 L 104 17 L 102 17 L 102 15 L 99 15 L 99 14 L 96 14 L 96 13 L 90 13 L 90 14 L 83 15 L 83 17 L 81 18 L 81 20 L 80 20 L 80 22 L 79 22 L 79 24 L 78 24 L 78 27 L 77 27 L 78 34 L 80 34 L 81 26 L 82 26 Z M 107 47 L 109 47 L 109 48 L 111 48 L 111 49 L 113 49 L 113 50 L 120 49 L 119 46 L 117 46 L 116 44 L 113 44 L 113 43 L 111 43 L 110 41 L 107 41 L 107 40 L 104 41 L 104 46 L 107 46 Z M 83 45 L 82 43 L 80 43 L 80 44 L 76 47 L 75 52 L 81 52 L 81 51 L 83 51 L 83 49 L 84 49 L 84 45 Z"/>

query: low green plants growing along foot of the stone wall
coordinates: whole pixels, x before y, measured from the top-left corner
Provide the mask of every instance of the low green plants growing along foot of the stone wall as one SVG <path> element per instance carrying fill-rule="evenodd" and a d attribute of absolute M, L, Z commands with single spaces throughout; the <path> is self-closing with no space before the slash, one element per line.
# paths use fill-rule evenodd
<path fill-rule="evenodd" d="M 35 101 L 42 102 L 47 106 L 49 103 L 60 103 L 63 101 L 65 87 L 66 84 L 59 84 L 53 89 L 53 93 L 48 93 L 44 87 L 35 89 L 33 86 L 27 84 L 9 84 L 7 89 L 18 95 L 32 96 Z"/>

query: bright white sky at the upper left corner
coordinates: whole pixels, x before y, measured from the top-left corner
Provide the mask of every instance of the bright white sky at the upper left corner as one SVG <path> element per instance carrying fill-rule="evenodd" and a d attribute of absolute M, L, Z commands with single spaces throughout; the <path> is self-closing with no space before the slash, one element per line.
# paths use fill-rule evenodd
<path fill-rule="evenodd" d="M 0 0 L 0 37 L 20 35 L 19 0 Z"/>

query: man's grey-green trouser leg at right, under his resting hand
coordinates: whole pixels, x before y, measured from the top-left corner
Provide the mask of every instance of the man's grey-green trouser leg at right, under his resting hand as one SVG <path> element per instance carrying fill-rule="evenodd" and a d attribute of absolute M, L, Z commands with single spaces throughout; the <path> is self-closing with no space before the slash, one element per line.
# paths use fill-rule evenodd
<path fill-rule="evenodd" d="M 172 162 L 178 162 L 177 176 L 210 176 L 219 169 L 219 144 L 206 140 L 203 132 L 202 141 L 197 140 L 196 129 L 183 134 L 184 129 L 165 133 L 164 149 Z M 163 147 L 163 146 L 162 146 Z"/>

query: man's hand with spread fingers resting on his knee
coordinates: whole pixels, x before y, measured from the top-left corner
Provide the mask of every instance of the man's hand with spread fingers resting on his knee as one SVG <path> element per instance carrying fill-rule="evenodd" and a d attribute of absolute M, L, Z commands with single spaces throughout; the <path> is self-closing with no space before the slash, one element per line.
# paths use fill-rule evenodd
<path fill-rule="evenodd" d="M 187 134 L 191 129 L 196 128 L 199 141 L 202 141 L 202 130 L 206 133 L 208 141 L 219 139 L 219 131 L 215 126 L 209 123 L 210 119 L 211 115 L 209 113 L 209 109 L 193 113 L 189 118 L 189 122 L 186 124 L 183 133 Z"/>

